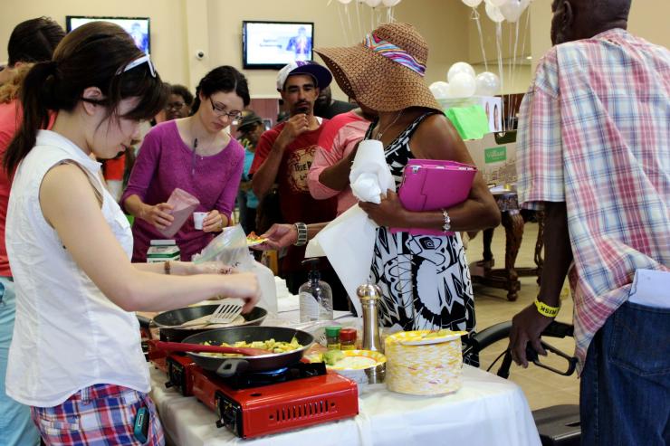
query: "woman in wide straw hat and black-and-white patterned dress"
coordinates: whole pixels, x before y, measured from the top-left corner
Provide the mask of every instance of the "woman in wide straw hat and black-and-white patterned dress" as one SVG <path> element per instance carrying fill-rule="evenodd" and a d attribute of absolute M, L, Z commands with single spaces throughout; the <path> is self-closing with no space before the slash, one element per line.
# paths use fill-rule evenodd
<path fill-rule="evenodd" d="M 366 138 L 384 145 L 397 187 L 411 158 L 474 164 L 428 90 L 424 81 L 428 47 L 412 25 L 383 24 L 353 47 L 315 51 L 345 94 L 378 111 Z M 391 191 L 381 204 L 359 205 L 380 226 L 370 278 L 384 294 L 383 324 L 406 330 L 473 330 L 473 289 L 459 232 L 500 223 L 500 212 L 481 174 L 467 200 L 445 210 L 408 212 Z M 393 234 L 391 227 L 443 229 L 455 235 Z"/>

